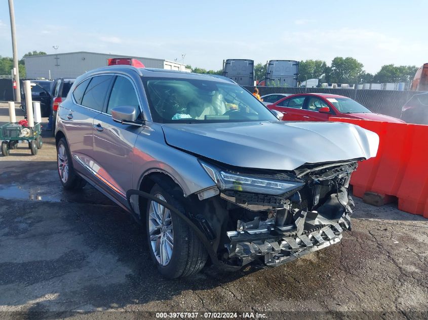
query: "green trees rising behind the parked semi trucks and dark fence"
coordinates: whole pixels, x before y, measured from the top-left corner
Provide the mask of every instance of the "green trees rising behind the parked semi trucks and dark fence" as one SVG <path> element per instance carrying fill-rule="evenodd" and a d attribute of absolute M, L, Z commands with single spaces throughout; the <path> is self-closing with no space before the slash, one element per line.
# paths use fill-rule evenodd
<path fill-rule="evenodd" d="M 206 70 L 192 68 L 195 73 L 223 74 L 223 70 Z M 394 64 L 383 65 L 380 70 L 371 74 L 366 72 L 364 65 L 352 57 L 336 57 L 330 65 L 323 60 L 302 60 L 299 63 L 298 81 L 306 79 L 320 79 L 321 82 L 333 83 L 385 83 L 411 81 L 418 69 L 417 66 L 396 66 Z M 266 64 L 258 63 L 254 66 L 254 79 L 262 81 L 266 75 Z"/>

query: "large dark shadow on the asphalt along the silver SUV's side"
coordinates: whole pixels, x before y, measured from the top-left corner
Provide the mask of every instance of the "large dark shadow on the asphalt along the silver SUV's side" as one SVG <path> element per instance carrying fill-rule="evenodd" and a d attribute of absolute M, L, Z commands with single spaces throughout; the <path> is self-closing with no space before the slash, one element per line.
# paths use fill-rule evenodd
<path fill-rule="evenodd" d="M 128 213 L 90 186 L 75 193 L 62 191 L 55 169 L 45 169 L 42 176 L 0 174 L 0 199 L 7 200 L 0 208 L 0 241 L 10 246 L 3 249 L 8 254 L 0 256 L 0 305 L 25 306 L 23 314 L 29 318 L 36 318 L 37 312 L 58 318 L 57 312 L 46 313 L 58 308 L 117 309 L 171 300 L 186 291 L 221 287 L 261 268 L 257 264 L 226 272 L 207 265 L 189 278 L 164 279 L 150 259 L 144 228 Z M 11 185 L 20 189 L 2 194 Z M 36 199 L 28 197 L 29 186 L 41 201 L 28 200 Z M 23 196 L 13 193 L 23 191 Z M 8 296 L 2 293 L 6 288 L 19 293 Z M 55 299 L 41 299 L 48 294 Z"/>

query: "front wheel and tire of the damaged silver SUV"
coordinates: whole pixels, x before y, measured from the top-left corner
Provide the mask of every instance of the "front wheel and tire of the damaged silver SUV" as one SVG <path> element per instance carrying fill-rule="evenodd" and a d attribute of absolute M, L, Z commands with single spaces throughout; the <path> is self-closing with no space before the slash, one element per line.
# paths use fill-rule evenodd
<path fill-rule="evenodd" d="M 185 213 L 180 199 L 172 198 L 159 185 L 154 185 L 150 194 Z M 147 202 L 148 247 L 161 275 L 174 279 L 199 272 L 208 257 L 202 242 L 174 212 L 154 201 Z"/>

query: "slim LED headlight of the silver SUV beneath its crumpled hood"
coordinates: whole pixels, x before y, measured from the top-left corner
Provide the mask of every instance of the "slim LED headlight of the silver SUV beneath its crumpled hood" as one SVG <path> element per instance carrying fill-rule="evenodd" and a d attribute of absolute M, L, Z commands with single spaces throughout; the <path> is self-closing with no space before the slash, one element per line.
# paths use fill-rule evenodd
<path fill-rule="evenodd" d="M 208 175 L 214 180 L 220 190 L 232 190 L 266 195 L 290 194 L 290 191 L 300 189 L 303 181 L 270 179 L 252 174 L 242 174 L 217 168 L 216 166 L 199 160 Z"/>

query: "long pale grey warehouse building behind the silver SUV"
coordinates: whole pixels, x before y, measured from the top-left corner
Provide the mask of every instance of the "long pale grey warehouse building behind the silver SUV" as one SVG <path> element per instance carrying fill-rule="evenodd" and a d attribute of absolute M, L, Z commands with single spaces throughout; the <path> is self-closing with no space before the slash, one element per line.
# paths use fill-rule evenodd
<path fill-rule="evenodd" d="M 53 55 L 25 57 L 26 78 L 76 78 L 85 72 L 107 66 L 110 58 L 132 58 L 146 68 L 160 68 L 190 72 L 184 65 L 165 59 L 101 54 L 95 52 L 70 52 Z"/>

